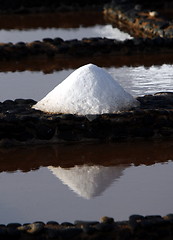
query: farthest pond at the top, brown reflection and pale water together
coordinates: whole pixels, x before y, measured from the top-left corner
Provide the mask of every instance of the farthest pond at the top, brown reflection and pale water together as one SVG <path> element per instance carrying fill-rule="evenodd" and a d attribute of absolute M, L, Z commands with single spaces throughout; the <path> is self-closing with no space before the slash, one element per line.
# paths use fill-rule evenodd
<path fill-rule="evenodd" d="M 32 42 L 46 37 L 64 40 L 81 40 L 85 37 L 131 38 L 129 34 L 107 24 L 103 15 L 96 12 L 0 16 L 0 42 Z"/>

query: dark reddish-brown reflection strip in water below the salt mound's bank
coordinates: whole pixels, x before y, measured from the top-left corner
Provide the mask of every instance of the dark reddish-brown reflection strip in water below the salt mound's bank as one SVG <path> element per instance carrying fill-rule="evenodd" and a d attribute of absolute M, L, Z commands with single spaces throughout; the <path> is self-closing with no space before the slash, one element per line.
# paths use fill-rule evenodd
<path fill-rule="evenodd" d="M 35 145 L 0 148 L 0 172 L 28 172 L 40 166 L 72 168 L 84 164 L 105 167 L 131 164 L 150 166 L 170 159 L 173 159 L 173 142 L 170 140 Z"/>

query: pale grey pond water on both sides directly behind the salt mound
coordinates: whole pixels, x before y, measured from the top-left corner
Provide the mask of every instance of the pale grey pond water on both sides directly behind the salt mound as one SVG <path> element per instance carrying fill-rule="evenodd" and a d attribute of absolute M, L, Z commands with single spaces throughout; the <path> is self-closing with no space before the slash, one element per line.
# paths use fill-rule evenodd
<path fill-rule="evenodd" d="M 173 91 L 173 66 L 106 68 L 122 87 L 133 96 Z M 42 99 L 74 70 L 62 70 L 51 74 L 42 72 L 0 73 L 0 101 L 16 98 Z M 41 86 L 41 87 L 40 87 Z"/>

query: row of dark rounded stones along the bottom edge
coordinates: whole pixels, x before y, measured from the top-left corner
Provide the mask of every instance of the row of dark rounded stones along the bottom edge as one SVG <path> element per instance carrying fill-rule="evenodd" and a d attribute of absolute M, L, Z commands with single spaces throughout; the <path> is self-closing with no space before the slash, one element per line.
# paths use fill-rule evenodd
<path fill-rule="evenodd" d="M 100 221 L 55 221 L 0 226 L 0 237 L 6 239 L 165 239 L 173 238 L 173 214 L 161 217 L 132 215 L 128 221 L 116 222 L 102 217 Z"/>

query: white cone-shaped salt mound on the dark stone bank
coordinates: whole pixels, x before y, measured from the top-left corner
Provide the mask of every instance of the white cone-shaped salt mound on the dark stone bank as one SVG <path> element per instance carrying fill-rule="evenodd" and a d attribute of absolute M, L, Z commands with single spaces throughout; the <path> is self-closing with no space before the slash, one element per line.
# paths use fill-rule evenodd
<path fill-rule="evenodd" d="M 109 73 L 87 64 L 71 73 L 33 108 L 48 113 L 87 115 L 115 113 L 138 105 Z"/>

